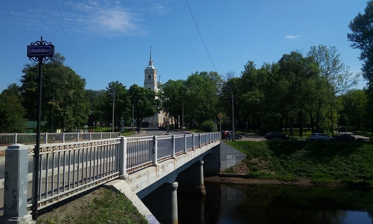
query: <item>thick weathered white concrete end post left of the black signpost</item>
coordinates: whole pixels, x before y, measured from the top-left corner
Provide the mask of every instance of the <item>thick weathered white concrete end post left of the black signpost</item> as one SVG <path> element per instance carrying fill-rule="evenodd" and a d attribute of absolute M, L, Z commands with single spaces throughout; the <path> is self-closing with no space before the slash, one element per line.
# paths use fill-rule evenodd
<path fill-rule="evenodd" d="M 0 223 L 35 223 L 27 213 L 28 148 L 13 144 L 5 150 L 4 215 Z"/>

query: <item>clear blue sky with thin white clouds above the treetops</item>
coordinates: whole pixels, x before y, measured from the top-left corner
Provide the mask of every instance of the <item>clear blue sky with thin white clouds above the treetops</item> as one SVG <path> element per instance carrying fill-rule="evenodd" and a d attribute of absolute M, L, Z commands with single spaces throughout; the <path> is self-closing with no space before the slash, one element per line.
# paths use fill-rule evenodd
<path fill-rule="evenodd" d="M 219 74 L 240 75 L 248 60 L 260 67 L 319 44 L 335 46 L 342 62 L 360 72 L 360 50 L 350 47 L 347 33 L 366 0 L 188 3 Z M 26 46 L 40 35 L 86 78 L 89 89 L 115 80 L 142 86 L 150 45 L 163 83 L 215 70 L 185 0 L 0 0 L 0 21 L 0 90 L 4 83 L 20 83 L 23 65 L 31 63 Z"/>

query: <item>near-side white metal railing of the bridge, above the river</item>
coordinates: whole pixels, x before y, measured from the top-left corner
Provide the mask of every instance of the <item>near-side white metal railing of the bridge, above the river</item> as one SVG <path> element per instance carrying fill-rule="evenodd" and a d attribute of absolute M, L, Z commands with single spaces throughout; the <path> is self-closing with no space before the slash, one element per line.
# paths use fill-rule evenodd
<path fill-rule="evenodd" d="M 34 173 L 35 146 L 13 145 L 8 146 L 9 149 L 6 150 L 5 162 L 14 165 L 9 170 L 6 166 L 5 172 L 11 175 L 13 171 L 16 171 L 15 174 L 21 175 L 21 177 L 14 178 L 28 176 L 27 182 L 29 183 L 25 183 L 26 188 L 27 184 L 29 185 L 27 198 L 18 200 L 21 194 L 15 200 L 27 201 L 27 208 L 31 209 L 34 189 L 37 186 L 38 209 L 40 209 L 138 169 L 156 165 L 219 140 L 221 140 L 220 133 L 203 133 L 145 137 L 120 136 L 104 140 L 81 139 L 75 142 L 43 144 L 39 149 L 38 184 L 35 183 Z M 23 155 L 22 150 L 28 153 Z M 21 155 L 18 161 L 33 161 L 32 169 L 29 166 L 27 170 L 25 164 L 15 163 L 15 155 Z M 19 167 L 16 164 L 19 164 Z M 1 181 L 4 182 L 4 179 Z M 5 191 L 18 187 L 6 181 L 5 186 L 8 186 Z M 5 201 L 4 199 L 4 203 Z M 4 208 L 6 208 L 5 205 Z"/>

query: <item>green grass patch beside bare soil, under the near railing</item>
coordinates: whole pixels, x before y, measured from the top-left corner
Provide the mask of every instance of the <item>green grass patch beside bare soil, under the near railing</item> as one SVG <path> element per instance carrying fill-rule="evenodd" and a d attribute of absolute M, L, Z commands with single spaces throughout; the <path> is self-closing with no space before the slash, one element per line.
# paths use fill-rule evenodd
<path fill-rule="evenodd" d="M 38 224 L 147 224 L 145 218 L 138 212 L 122 193 L 115 193 L 108 189 L 100 190 L 100 197 L 97 197 L 87 206 L 82 206 L 82 212 L 78 215 L 66 214 L 59 218 L 59 214 L 52 212 L 46 219 L 39 219 Z"/>

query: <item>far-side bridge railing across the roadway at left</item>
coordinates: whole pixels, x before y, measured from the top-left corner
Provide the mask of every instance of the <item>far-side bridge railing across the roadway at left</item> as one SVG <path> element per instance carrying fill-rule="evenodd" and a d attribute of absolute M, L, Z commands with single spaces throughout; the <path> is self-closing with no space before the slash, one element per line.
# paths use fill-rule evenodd
<path fill-rule="evenodd" d="M 120 135 L 119 132 L 88 132 L 88 133 L 40 133 L 40 143 L 59 143 L 69 141 L 87 141 L 99 139 L 111 139 Z M 10 144 L 36 144 L 36 133 L 2 133 L 0 134 L 0 146 Z"/>

